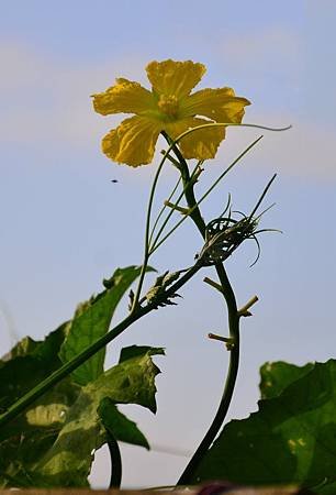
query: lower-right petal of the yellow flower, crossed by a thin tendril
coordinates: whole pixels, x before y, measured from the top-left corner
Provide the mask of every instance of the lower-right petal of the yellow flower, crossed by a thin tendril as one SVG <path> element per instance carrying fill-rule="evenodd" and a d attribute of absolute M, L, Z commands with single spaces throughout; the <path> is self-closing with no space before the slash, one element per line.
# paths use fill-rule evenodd
<path fill-rule="evenodd" d="M 212 123 L 204 119 L 187 118 L 165 127 L 170 138 L 176 139 L 182 132 L 198 125 Z M 184 158 L 209 160 L 214 158 L 217 148 L 225 138 L 225 128 L 200 129 L 182 138 L 178 143 Z"/>

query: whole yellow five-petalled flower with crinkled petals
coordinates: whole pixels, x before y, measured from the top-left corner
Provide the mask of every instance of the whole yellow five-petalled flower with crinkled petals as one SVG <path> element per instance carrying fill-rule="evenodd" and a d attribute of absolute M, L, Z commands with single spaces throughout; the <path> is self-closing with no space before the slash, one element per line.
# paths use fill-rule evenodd
<path fill-rule="evenodd" d="M 249 101 L 236 97 L 233 89 L 191 92 L 205 70 L 204 65 L 191 61 L 150 62 L 146 72 L 152 91 L 120 78 L 115 86 L 93 95 L 94 110 L 102 116 L 135 113 L 103 138 L 103 153 L 113 162 L 136 167 L 153 161 L 163 131 L 176 139 L 191 128 L 210 122 L 240 123 Z M 184 158 L 213 158 L 224 138 L 225 128 L 202 129 L 183 138 L 179 147 Z"/>

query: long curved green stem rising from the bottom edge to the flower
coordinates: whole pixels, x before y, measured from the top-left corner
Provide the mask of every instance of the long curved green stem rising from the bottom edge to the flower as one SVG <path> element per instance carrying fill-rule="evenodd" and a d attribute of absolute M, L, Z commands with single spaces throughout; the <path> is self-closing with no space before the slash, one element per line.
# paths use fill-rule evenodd
<path fill-rule="evenodd" d="M 168 144 L 171 145 L 170 138 L 165 134 L 165 138 L 168 142 Z M 198 207 L 194 193 L 193 193 L 193 183 L 190 179 L 189 175 L 189 168 L 186 160 L 183 158 L 180 150 L 176 144 L 172 144 L 172 150 L 178 157 L 180 162 L 180 172 L 184 185 L 186 190 L 186 199 L 188 202 L 189 208 L 191 209 L 190 217 L 195 223 L 198 230 L 200 231 L 201 235 L 205 237 L 205 222 L 201 216 L 200 209 Z M 193 457 L 191 458 L 190 462 L 188 463 L 187 468 L 184 469 L 183 473 L 181 474 L 179 481 L 177 482 L 177 485 L 187 485 L 192 480 L 192 476 L 198 469 L 201 460 L 203 459 L 204 454 L 208 452 L 210 446 L 212 444 L 213 440 L 215 439 L 216 435 L 219 433 L 223 421 L 225 420 L 235 384 L 238 373 L 238 365 L 239 365 L 239 316 L 238 316 L 238 309 L 237 309 L 237 302 L 235 298 L 235 294 L 233 292 L 233 288 L 231 286 L 231 283 L 227 278 L 225 268 L 222 263 L 216 263 L 215 265 L 222 288 L 223 288 L 223 295 L 227 305 L 227 311 L 228 311 L 228 328 L 229 328 L 229 337 L 233 339 L 234 345 L 229 353 L 229 365 L 228 365 L 228 372 L 227 377 L 224 385 L 224 391 L 222 395 L 222 399 L 220 403 L 220 406 L 217 408 L 216 415 L 206 431 L 203 440 L 201 441 L 200 446 L 198 447 L 197 451 L 194 452 Z"/>

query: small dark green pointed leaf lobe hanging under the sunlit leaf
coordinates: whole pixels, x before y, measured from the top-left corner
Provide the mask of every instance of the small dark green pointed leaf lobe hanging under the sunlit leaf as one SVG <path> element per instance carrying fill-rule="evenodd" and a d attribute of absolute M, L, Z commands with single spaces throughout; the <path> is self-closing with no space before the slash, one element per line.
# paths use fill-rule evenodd
<path fill-rule="evenodd" d="M 136 424 L 120 413 L 110 397 L 104 397 L 101 400 L 98 414 L 104 428 L 110 431 L 115 440 L 145 447 L 145 449 L 149 450 L 149 444 Z"/>

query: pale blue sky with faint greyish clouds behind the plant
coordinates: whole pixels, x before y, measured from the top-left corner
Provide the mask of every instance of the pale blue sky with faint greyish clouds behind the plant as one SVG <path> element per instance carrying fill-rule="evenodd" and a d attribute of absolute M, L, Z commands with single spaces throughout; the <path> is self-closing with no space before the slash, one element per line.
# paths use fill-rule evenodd
<path fill-rule="evenodd" d="M 173 58 L 206 65 L 199 88 L 232 86 L 250 99 L 245 122 L 293 125 L 266 132 L 203 210 L 206 221 L 219 216 L 229 191 L 234 206 L 248 211 L 278 173 L 265 202 L 277 206 L 262 226 L 283 234 L 260 239 L 253 268 L 253 244 L 227 263 L 239 304 L 260 298 L 254 317 L 242 321 L 229 418 L 256 410 L 265 361 L 336 358 L 335 14 L 333 0 L 0 0 L 1 353 L 25 334 L 42 339 L 115 267 L 142 262 L 157 161 L 137 169 L 109 162 L 100 140 L 121 119 L 96 114 L 89 96 L 120 76 L 146 84 L 148 62 Z M 259 134 L 229 129 L 203 180 Z M 173 177 L 163 176 L 160 199 Z M 188 266 L 200 248 L 184 224 L 152 264 L 160 272 Z M 211 271 L 181 290 L 177 308 L 147 316 L 109 348 L 110 365 L 132 343 L 167 352 L 156 360 L 157 416 L 123 408 L 155 449 L 122 448 L 123 487 L 175 483 L 188 459 L 157 450 L 192 451 L 219 404 L 228 355 L 206 333 L 225 334 L 226 315 L 205 275 Z M 107 486 L 109 477 L 102 450 L 92 483 Z"/>

